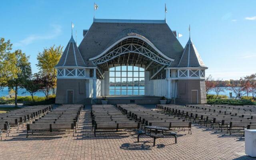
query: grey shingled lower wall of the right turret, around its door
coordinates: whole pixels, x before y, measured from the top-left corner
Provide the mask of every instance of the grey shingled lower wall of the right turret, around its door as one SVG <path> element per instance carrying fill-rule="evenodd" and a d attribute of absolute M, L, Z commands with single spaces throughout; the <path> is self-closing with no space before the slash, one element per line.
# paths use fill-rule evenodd
<path fill-rule="evenodd" d="M 204 80 L 178 80 L 177 98 L 180 103 L 191 104 L 192 90 L 198 90 L 198 104 L 206 103 Z"/>

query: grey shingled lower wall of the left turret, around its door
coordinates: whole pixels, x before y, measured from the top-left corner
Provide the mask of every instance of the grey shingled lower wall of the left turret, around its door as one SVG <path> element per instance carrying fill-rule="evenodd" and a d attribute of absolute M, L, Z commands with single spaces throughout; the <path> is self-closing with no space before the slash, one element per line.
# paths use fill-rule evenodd
<path fill-rule="evenodd" d="M 81 104 L 86 98 L 86 80 L 57 79 L 56 104 L 67 103 L 67 90 L 73 90 L 73 103 Z"/>

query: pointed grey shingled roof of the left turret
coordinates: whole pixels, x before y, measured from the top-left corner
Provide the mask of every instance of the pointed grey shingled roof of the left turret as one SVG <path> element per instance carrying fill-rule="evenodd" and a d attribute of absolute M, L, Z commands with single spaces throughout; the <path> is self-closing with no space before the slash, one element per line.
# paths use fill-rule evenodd
<path fill-rule="evenodd" d="M 76 46 L 76 42 L 71 36 L 68 45 L 66 46 L 59 63 L 56 65 L 56 67 L 61 66 L 80 66 L 85 67 L 84 60 L 78 50 L 78 47 Z"/>

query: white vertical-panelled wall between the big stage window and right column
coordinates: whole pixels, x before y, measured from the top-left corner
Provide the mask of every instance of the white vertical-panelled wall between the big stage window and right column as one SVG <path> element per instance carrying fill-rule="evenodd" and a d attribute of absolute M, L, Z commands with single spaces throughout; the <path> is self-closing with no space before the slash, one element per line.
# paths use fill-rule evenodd
<path fill-rule="evenodd" d="M 150 96 L 167 96 L 167 80 L 150 80 Z"/>

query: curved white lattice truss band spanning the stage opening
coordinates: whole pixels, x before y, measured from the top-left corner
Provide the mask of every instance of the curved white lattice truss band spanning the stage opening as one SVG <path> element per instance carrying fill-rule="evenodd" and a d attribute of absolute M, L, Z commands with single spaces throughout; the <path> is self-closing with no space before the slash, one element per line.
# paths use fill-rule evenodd
<path fill-rule="evenodd" d="M 95 65 L 102 64 L 126 53 L 137 53 L 137 54 L 146 56 L 147 58 L 150 58 L 151 60 L 165 66 L 168 66 L 171 62 L 170 60 L 166 60 L 165 58 L 162 58 L 158 54 L 150 51 L 148 48 L 141 46 L 139 44 L 124 44 L 118 48 L 115 48 L 111 52 L 104 54 L 104 56 L 96 60 L 93 60 L 92 62 Z"/>

